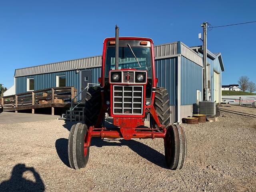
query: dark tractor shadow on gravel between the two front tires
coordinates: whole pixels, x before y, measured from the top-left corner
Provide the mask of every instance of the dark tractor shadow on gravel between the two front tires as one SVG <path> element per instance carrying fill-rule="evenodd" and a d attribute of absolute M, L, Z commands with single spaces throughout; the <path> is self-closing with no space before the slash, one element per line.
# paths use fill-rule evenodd
<path fill-rule="evenodd" d="M 165 163 L 165 157 L 162 153 L 154 150 L 153 148 L 138 142 L 136 140 L 116 140 L 116 142 L 108 142 L 108 140 L 102 140 L 100 138 L 92 138 L 91 146 L 102 147 L 102 146 L 128 146 L 131 150 L 136 152 L 142 158 L 160 166 L 167 168 Z"/>

